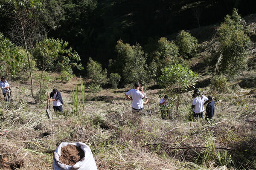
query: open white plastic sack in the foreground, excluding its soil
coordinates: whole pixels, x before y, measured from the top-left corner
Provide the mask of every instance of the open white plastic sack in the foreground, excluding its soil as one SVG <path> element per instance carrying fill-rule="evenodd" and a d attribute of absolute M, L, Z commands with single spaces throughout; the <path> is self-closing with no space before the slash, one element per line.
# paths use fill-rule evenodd
<path fill-rule="evenodd" d="M 84 151 L 84 158 L 81 159 L 76 164 L 74 164 L 73 166 L 62 164 L 61 161 L 59 160 L 59 157 L 61 156 L 61 147 L 64 147 L 67 145 L 75 145 L 77 147 L 80 147 Z M 53 154 L 52 167 L 53 167 L 53 170 L 98 170 L 95 160 L 93 158 L 93 153 L 90 150 L 90 147 L 88 147 L 86 144 L 82 142 L 61 143 Z"/>

